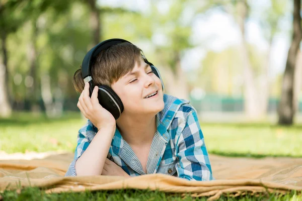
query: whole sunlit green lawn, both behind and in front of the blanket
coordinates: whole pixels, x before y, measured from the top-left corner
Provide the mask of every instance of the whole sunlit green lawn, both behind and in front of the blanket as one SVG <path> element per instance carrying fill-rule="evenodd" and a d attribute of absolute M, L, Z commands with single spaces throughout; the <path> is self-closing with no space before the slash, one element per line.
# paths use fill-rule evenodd
<path fill-rule="evenodd" d="M 73 152 L 77 144 L 78 130 L 86 123 L 79 113 L 65 113 L 62 117 L 48 119 L 44 115 L 16 113 L 12 118 L 0 119 L 0 151 L 15 152 Z M 261 124 L 204 124 L 201 129 L 209 153 L 225 156 L 302 157 L 302 125 L 280 127 L 268 123 Z M 128 190 L 97 191 L 83 193 L 45 194 L 37 188 L 27 188 L 2 193 L 4 200 L 192 200 L 188 195 L 163 192 Z M 278 197 L 270 195 L 268 200 L 302 200 L 295 192 Z M 1 200 L 1 196 L 0 196 Z M 198 199 L 197 199 L 198 200 Z M 204 198 L 200 199 L 204 200 Z M 233 200 L 220 197 L 220 200 Z M 241 200 L 263 200 L 246 195 Z"/>

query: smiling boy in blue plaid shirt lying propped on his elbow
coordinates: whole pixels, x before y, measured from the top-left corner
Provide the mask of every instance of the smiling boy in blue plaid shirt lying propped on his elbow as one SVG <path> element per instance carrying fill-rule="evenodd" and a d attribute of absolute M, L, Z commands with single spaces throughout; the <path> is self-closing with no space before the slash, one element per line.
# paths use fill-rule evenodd
<path fill-rule="evenodd" d="M 87 83 L 85 70 L 73 76 L 75 89 L 82 92 L 78 108 L 88 122 L 79 131 L 74 160 L 65 176 L 162 173 L 212 180 L 194 108 L 186 100 L 164 94 L 158 72 L 138 47 L 122 39 L 103 43 L 106 48 L 101 43 L 95 46 L 94 51 L 103 49 L 91 57 Z M 90 90 L 91 83 L 96 86 Z M 118 117 L 99 104 L 99 85 L 111 87 L 118 96 L 116 102 L 123 105 L 123 110 L 117 107 Z"/>

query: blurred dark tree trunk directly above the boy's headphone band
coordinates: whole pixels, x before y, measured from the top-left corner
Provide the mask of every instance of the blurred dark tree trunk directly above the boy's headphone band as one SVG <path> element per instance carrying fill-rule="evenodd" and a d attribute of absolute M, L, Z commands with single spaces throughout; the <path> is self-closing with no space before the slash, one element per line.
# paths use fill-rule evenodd
<path fill-rule="evenodd" d="M 96 0 L 88 0 L 88 4 L 91 10 L 90 15 L 90 26 L 92 29 L 92 38 L 93 42 L 90 45 L 94 47 L 98 43 L 100 43 L 101 37 L 101 19 L 100 19 L 100 10 L 97 8 L 97 1 Z"/>

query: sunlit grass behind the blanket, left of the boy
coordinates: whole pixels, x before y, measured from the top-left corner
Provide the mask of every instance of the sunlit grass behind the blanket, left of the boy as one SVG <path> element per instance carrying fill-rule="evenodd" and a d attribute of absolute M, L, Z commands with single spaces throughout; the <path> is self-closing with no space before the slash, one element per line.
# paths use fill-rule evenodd
<path fill-rule="evenodd" d="M 0 150 L 7 153 L 73 152 L 78 131 L 85 123 L 79 113 L 67 113 L 57 119 L 48 119 L 45 115 L 14 114 L 9 119 L 0 119 Z"/>

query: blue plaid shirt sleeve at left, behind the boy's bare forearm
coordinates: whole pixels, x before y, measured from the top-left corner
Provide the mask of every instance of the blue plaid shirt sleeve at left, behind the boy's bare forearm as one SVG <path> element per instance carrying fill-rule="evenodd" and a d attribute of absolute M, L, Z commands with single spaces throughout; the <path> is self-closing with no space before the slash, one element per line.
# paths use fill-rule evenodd
<path fill-rule="evenodd" d="M 78 145 L 75 148 L 74 158 L 70 163 L 65 176 L 77 176 L 77 171 L 75 170 L 75 162 L 77 162 L 77 160 L 85 152 L 96 133 L 97 128 L 89 120 L 87 121 L 87 124 L 79 130 Z"/>

